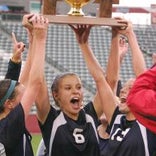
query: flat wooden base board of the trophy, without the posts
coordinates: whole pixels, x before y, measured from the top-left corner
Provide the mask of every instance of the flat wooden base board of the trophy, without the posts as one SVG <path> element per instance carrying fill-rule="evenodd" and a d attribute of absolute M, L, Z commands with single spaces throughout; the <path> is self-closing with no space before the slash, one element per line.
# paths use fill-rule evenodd
<path fill-rule="evenodd" d="M 69 15 L 44 15 L 49 23 L 54 24 L 86 24 L 93 26 L 118 26 L 126 28 L 127 25 L 118 23 L 113 18 L 90 17 L 90 16 L 69 16 Z"/>

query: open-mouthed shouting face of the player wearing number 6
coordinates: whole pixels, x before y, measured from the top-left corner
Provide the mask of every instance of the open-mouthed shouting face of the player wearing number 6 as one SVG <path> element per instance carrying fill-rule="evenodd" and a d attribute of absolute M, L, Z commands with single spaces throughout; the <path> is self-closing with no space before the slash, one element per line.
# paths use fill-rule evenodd
<path fill-rule="evenodd" d="M 61 110 L 76 120 L 83 103 L 83 88 L 80 78 L 76 75 L 67 75 L 62 78 L 55 98 Z"/>

